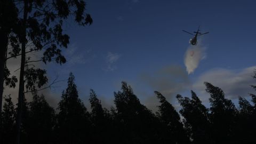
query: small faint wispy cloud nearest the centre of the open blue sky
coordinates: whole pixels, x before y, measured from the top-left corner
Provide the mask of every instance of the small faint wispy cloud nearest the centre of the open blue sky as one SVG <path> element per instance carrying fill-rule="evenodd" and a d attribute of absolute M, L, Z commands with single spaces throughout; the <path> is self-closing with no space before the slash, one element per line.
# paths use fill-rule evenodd
<path fill-rule="evenodd" d="M 105 70 L 106 71 L 115 70 L 116 69 L 115 63 L 117 62 L 117 60 L 119 60 L 120 57 L 121 57 L 121 54 L 108 52 L 106 57 L 107 68 Z"/>

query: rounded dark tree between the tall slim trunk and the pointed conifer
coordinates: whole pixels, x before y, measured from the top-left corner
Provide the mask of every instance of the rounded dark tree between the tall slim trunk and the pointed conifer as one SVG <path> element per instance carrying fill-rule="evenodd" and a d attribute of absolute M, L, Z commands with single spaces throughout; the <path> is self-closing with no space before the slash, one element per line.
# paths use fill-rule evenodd
<path fill-rule="evenodd" d="M 29 138 L 26 143 L 53 143 L 54 109 L 49 106 L 44 95 L 34 94 L 28 104 L 30 111 L 25 129 Z"/>

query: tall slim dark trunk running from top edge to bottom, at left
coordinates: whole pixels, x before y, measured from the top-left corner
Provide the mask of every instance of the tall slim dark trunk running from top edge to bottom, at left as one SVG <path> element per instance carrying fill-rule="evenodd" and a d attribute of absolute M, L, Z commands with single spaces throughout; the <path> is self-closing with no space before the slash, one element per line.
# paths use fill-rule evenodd
<path fill-rule="evenodd" d="M 21 36 L 21 63 L 20 63 L 20 81 L 19 81 L 19 98 L 18 98 L 18 113 L 17 113 L 17 139 L 16 143 L 20 143 L 20 126 L 22 121 L 22 105 L 24 101 L 24 72 L 25 72 L 25 62 L 26 62 L 26 23 L 28 15 L 28 2 L 24 1 L 24 14 L 23 14 L 23 26 L 22 26 L 22 36 Z"/>

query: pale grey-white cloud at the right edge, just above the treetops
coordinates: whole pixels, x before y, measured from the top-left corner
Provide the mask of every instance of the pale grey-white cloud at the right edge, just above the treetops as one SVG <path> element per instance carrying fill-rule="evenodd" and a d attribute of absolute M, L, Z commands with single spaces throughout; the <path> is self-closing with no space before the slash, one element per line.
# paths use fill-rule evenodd
<path fill-rule="evenodd" d="M 234 71 L 229 69 L 212 69 L 198 77 L 193 84 L 193 89 L 198 91 L 203 101 L 208 101 L 205 95 L 204 82 L 209 82 L 214 86 L 220 87 L 228 99 L 236 99 L 238 96 L 247 97 L 248 93 L 255 93 L 250 85 L 256 85 L 252 78 L 256 66 Z"/>

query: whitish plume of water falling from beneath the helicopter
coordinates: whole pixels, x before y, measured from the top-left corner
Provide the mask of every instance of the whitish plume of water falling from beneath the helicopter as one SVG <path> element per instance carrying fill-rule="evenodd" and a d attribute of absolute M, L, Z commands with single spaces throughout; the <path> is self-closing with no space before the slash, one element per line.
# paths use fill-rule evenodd
<path fill-rule="evenodd" d="M 199 62 L 206 57 L 205 49 L 200 42 L 197 45 L 190 45 L 188 47 L 184 58 L 188 74 L 194 73 Z"/>

